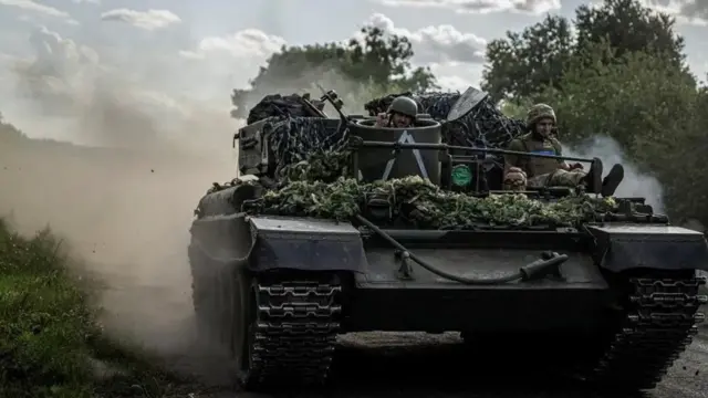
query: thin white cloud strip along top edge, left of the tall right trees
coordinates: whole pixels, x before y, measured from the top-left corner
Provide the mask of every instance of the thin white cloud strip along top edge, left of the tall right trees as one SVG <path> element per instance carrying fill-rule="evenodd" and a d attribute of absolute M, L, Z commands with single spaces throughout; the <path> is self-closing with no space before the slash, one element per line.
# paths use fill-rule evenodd
<path fill-rule="evenodd" d="M 458 13 L 520 12 L 543 14 L 561 9 L 560 0 L 372 0 L 387 7 L 441 8 Z"/>

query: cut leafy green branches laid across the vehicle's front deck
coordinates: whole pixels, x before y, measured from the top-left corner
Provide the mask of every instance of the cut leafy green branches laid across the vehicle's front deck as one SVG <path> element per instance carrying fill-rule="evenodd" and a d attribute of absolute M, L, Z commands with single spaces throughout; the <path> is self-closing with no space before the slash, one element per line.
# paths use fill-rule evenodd
<path fill-rule="evenodd" d="M 389 218 L 404 219 L 420 229 L 475 229 L 480 227 L 576 227 L 594 221 L 596 214 L 616 211 L 612 198 L 587 196 L 563 198 L 554 203 L 525 195 L 475 198 L 444 191 L 419 176 L 361 185 L 353 178 L 332 184 L 294 180 L 279 190 L 267 191 L 254 201 L 253 212 L 278 216 L 313 216 L 351 220 L 361 213 L 366 198 L 392 203 Z"/>

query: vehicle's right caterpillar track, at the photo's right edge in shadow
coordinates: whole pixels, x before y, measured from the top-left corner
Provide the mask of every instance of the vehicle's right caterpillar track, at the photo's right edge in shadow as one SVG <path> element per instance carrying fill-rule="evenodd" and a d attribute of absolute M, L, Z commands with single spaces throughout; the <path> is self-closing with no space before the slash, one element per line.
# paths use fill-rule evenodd
<path fill-rule="evenodd" d="M 705 315 L 698 294 L 705 277 L 629 280 L 621 331 L 590 375 L 613 389 L 652 389 L 691 343 Z"/>

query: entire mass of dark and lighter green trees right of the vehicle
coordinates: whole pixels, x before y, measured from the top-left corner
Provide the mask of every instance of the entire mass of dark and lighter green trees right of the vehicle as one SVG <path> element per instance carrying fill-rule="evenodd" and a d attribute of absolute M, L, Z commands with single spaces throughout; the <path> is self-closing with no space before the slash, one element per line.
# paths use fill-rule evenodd
<path fill-rule="evenodd" d="M 548 17 L 490 43 L 482 87 L 522 115 L 533 102 L 555 107 L 561 138 L 577 144 L 603 135 L 616 140 L 664 188 L 677 222 L 708 222 L 702 172 L 708 138 L 708 92 L 688 70 L 675 20 L 636 0 L 581 6 L 574 30 Z"/>

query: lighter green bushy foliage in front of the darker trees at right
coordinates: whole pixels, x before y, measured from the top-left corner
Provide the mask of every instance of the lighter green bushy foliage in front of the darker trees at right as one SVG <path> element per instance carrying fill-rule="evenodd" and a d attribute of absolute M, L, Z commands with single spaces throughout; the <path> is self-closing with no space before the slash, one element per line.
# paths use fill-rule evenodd
<path fill-rule="evenodd" d="M 568 65 L 562 88 L 548 87 L 540 100 L 554 104 L 565 143 L 614 138 L 663 184 L 671 217 L 707 223 L 708 175 L 690 172 L 704 168 L 708 149 L 705 90 L 668 54 L 618 52 L 608 41 L 587 46 Z"/>

